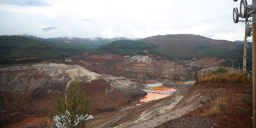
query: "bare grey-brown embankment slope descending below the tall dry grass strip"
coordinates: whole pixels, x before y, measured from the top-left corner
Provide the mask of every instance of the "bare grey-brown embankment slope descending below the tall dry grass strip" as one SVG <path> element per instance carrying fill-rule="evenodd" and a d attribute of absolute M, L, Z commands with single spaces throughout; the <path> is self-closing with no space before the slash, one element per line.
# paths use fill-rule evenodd
<path fill-rule="evenodd" d="M 156 116 L 149 120 L 139 122 L 126 128 L 152 128 L 164 124 L 166 121 L 178 118 L 190 111 L 193 111 L 204 104 L 210 103 L 218 96 L 240 93 L 241 90 L 250 88 L 251 85 L 234 84 L 234 83 L 205 83 L 195 85 L 184 96 L 184 98 L 173 107 L 170 112 Z"/>

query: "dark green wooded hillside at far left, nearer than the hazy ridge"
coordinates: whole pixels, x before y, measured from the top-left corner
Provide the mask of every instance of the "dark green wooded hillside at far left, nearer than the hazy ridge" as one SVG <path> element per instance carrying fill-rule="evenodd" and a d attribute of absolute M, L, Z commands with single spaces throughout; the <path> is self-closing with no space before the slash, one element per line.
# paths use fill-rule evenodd
<path fill-rule="evenodd" d="M 27 57 L 64 58 L 88 51 L 83 43 L 51 42 L 25 36 L 0 36 L 0 47 L 1 64 Z"/>

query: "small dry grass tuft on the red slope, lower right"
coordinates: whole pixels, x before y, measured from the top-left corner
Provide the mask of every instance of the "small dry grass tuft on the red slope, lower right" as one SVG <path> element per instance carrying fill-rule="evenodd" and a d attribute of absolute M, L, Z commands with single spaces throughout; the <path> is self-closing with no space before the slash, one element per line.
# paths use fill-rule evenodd
<path fill-rule="evenodd" d="M 218 116 L 226 113 L 226 99 L 218 97 L 206 108 L 204 116 Z"/>

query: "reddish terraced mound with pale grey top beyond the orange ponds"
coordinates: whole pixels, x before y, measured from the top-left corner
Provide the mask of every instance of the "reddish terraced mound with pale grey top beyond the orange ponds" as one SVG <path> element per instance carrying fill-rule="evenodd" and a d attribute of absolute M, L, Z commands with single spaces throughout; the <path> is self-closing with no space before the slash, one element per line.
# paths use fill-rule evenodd
<path fill-rule="evenodd" d="M 194 70 L 187 68 L 172 60 L 166 60 L 160 56 L 142 56 L 136 55 L 126 57 L 122 62 L 116 62 L 112 65 L 105 63 L 84 62 L 83 67 L 99 74 L 108 74 L 113 76 L 121 76 L 126 78 L 135 78 L 140 80 L 150 79 L 169 79 L 187 81 L 193 79 L 191 72 Z"/>

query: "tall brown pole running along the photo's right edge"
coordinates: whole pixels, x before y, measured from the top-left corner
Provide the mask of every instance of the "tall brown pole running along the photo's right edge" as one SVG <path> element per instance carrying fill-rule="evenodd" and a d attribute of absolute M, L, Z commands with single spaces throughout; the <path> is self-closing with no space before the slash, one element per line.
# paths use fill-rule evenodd
<path fill-rule="evenodd" d="M 256 5 L 256 0 L 252 0 L 252 4 Z M 256 13 L 253 14 L 253 128 L 256 128 Z"/>

